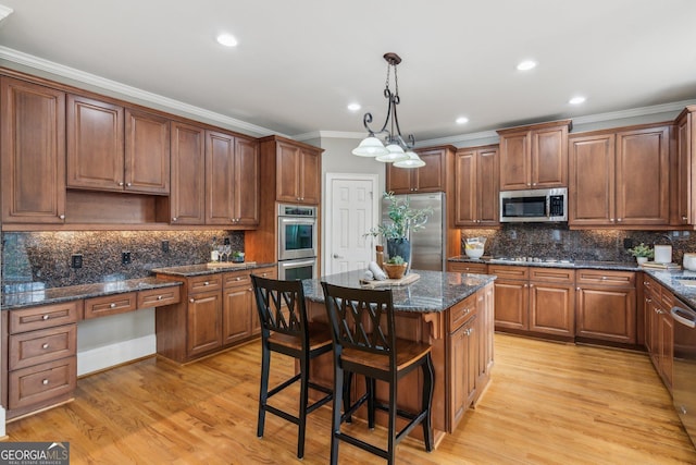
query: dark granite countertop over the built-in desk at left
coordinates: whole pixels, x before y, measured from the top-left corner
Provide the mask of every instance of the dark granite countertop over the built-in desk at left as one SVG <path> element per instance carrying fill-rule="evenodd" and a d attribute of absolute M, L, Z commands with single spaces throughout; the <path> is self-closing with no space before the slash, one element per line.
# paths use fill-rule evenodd
<path fill-rule="evenodd" d="M 80 298 L 101 297 L 103 295 L 122 294 L 133 291 L 181 285 L 176 281 L 163 281 L 157 278 L 140 278 L 123 281 L 109 281 L 95 284 L 67 285 L 49 287 L 29 292 L 2 294 L 2 310 L 32 307 L 35 305 L 58 304 Z"/>

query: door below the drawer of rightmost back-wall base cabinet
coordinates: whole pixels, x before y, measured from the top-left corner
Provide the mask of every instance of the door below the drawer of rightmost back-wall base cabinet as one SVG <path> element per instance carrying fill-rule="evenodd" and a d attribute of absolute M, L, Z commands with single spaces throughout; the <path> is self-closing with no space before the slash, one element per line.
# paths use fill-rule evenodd
<path fill-rule="evenodd" d="M 577 287 L 575 335 L 635 344 L 635 289 Z"/>

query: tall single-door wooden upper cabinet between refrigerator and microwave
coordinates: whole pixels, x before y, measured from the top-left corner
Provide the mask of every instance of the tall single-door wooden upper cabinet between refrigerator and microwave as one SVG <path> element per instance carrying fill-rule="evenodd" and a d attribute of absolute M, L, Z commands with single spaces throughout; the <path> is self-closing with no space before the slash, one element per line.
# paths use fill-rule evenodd
<path fill-rule="evenodd" d="M 455 156 L 455 224 L 496 227 L 498 207 L 498 146 L 457 150 Z"/>

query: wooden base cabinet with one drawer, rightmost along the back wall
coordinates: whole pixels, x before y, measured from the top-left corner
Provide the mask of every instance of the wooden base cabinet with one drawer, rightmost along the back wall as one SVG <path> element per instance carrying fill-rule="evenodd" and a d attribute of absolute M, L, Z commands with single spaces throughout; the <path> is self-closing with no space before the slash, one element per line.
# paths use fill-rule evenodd
<path fill-rule="evenodd" d="M 581 269 L 576 291 L 576 336 L 636 343 L 635 272 Z"/>

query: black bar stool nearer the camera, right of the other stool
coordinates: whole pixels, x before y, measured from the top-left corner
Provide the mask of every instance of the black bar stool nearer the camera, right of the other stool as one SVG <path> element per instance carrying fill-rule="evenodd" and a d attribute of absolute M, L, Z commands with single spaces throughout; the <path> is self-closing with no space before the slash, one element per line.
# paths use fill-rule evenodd
<path fill-rule="evenodd" d="M 334 338 L 334 408 L 331 438 L 331 464 L 338 461 L 338 441 L 345 441 L 376 454 L 393 464 L 396 445 L 419 424 L 423 427 L 425 450 L 433 450 L 431 404 L 435 375 L 431 346 L 415 341 L 397 339 L 395 332 L 391 290 L 351 289 L 322 282 L 326 311 Z M 406 412 L 396 405 L 398 381 L 421 367 L 423 392 L 421 409 Z M 365 394 L 350 404 L 352 375 L 365 377 Z M 375 399 L 375 380 L 389 386 L 388 404 Z M 344 414 L 339 399 L 344 397 Z M 340 425 L 364 403 L 368 403 L 368 426 L 374 428 L 375 408 L 388 413 L 387 448 L 382 449 L 355 436 L 341 432 Z M 348 405 L 348 406 L 346 406 Z M 397 416 L 407 425 L 396 430 Z"/>

